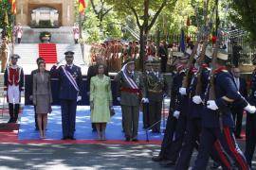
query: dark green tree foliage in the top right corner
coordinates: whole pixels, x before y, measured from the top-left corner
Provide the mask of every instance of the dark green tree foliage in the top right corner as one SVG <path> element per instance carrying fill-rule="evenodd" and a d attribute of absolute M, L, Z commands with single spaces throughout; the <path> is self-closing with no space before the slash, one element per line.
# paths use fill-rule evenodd
<path fill-rule="evenodd" d="M 249 40 L 256 46 L 256 1 L 229 0 L 230 19 L 249 33 Z"/>

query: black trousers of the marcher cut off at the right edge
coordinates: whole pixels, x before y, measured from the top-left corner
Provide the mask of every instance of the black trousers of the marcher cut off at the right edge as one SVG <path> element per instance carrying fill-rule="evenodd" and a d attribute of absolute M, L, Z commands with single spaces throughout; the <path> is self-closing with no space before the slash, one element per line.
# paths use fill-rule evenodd
<path fill-rule="evenodd" d="M 248 164 L 251 166 L 253 153 L 256 144 L 256 115 L 247 113 L 247 131 L 246 131 L 246 158 Z"/>

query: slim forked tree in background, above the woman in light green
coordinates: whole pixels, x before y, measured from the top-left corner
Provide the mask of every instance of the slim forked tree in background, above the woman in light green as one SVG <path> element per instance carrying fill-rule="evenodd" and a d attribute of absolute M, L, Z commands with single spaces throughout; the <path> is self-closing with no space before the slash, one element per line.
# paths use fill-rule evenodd
<path fill-rule="evenodd" d="M 107 7 L 105 0 L 90 0 L 91 6 L 94 13 L 96 14 L 100 22 L 100 30 L 102 31 L 103 18 L 113 9 L 112 7 Z M 98 5 L 96 5 L 98 4 Z"/>

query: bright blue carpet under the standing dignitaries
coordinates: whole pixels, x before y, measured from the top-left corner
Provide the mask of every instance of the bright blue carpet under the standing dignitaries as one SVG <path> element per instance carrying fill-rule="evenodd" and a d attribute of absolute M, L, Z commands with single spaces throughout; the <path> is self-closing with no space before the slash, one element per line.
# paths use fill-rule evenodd
<path fill-rule="evenodd" d="M 124 134 L 121 131 L 121 110 L 120 107 L 114 107 L 116 114 L 111 118 L 111 122 L 107 124 L 106 139 L 107 140 L 123 140 Z M 139 114 L 138 139 L 146 140 L 145 130 L 142 128 L 142 113 Z M 161 126 L 162 127 L 162 126 Z M 61 108 L 53 106 L 52 112 L 48 114 L 48 124 L 46 130 L 46 139 L 60 140 L 62 138 L 62 116 Z M 162 140 L 163 134 L 149 132 L 150 140 Z M 76 118 L 77 140 L 94 140 L 97 133 L 92 131 L 90 122 L 90 110 L 88 106 L 78 106 Z M 21 124 L 19 129 L 19 140 L 36 140 L 39 138 L 39 132 L 34 126 L 34 110 L 33 106 L 25 106 Z"/>

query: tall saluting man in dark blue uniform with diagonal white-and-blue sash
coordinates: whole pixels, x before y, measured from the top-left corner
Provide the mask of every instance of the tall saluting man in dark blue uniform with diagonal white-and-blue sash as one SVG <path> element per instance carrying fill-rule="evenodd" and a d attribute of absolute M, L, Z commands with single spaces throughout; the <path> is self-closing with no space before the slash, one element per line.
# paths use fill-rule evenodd
<path fill-rule="evenodd" d="M 60 82 L 60 99 L 62 108 L 63 140 L 74 138 L 76 125 L 77 102 L 82 100 L 81 86 L 82 73 L 81 68 L 73 64 L 74 52 L 67 51 L 65 55 L 65 65 L 57 68 L 54 65 L 50 72 L 57 71 Z"/>

